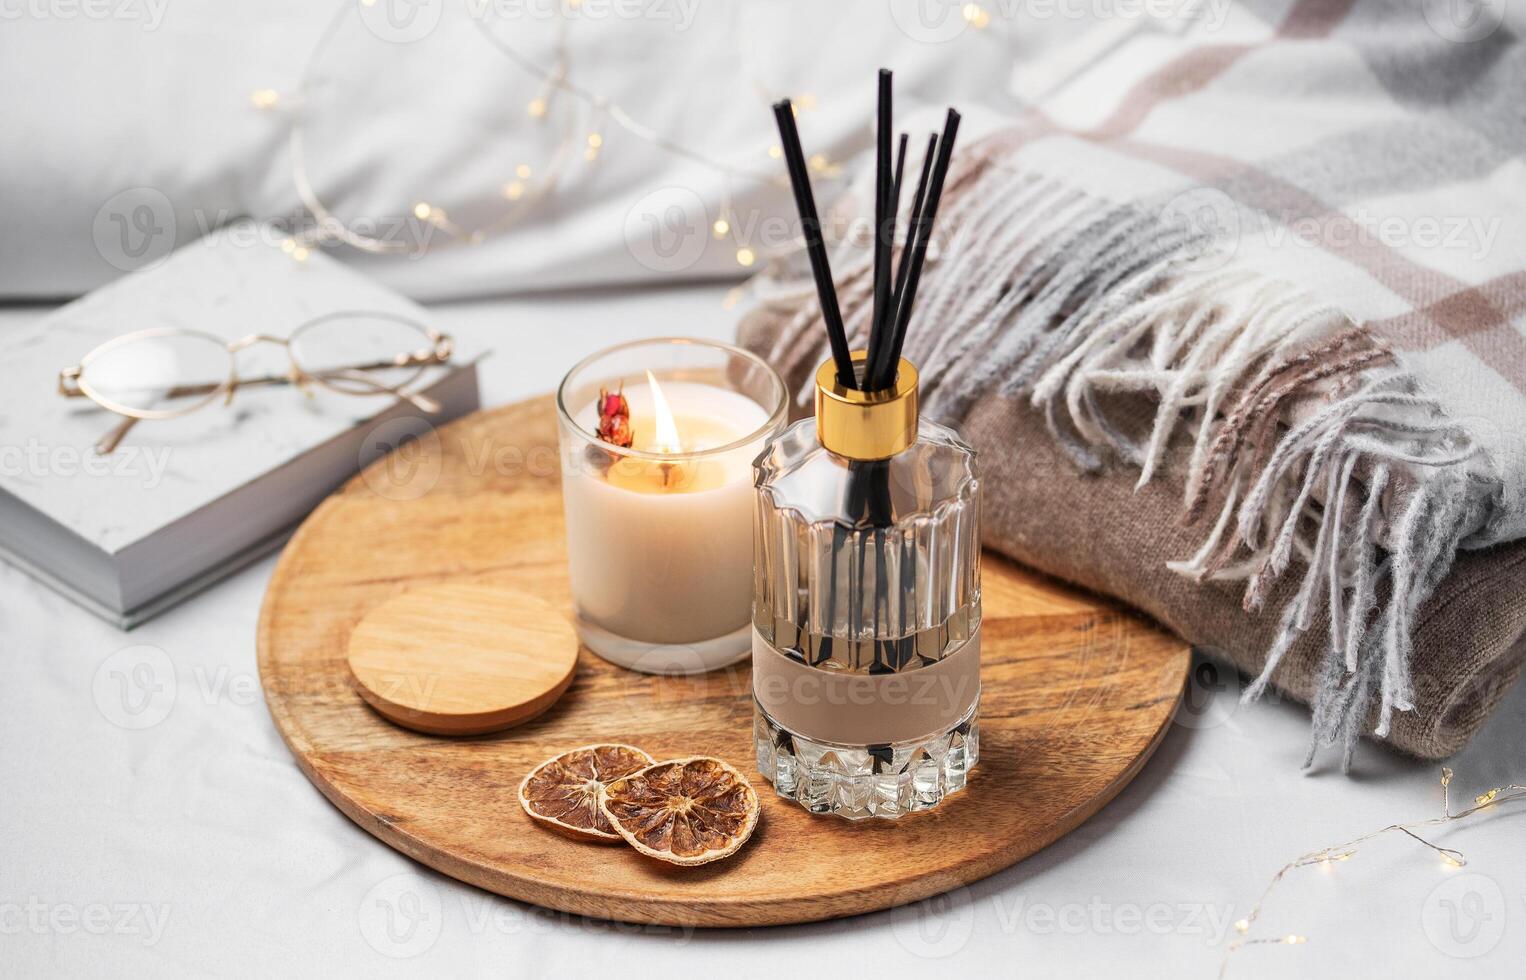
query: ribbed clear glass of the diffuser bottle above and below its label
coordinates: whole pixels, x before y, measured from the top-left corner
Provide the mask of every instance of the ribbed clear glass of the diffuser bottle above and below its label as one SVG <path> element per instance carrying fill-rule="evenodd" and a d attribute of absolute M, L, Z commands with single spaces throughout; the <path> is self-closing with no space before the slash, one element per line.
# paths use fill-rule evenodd
<path fill-rule="evenodd" d="M 975 453 L 923 420 L 891 459 L 826 450 L 813 420 L 755 464 L 752 624 L 816 670 L 903 673 L 938 662 L 980 629 Z M 894 711 L 887 705 L 885 711 Z M 897 818 L 963 789 L 980 759 L 980 705 L 940 731 L 841 745 L 792 731 L 754 702 L 758 771 L 816 814 Z"/>

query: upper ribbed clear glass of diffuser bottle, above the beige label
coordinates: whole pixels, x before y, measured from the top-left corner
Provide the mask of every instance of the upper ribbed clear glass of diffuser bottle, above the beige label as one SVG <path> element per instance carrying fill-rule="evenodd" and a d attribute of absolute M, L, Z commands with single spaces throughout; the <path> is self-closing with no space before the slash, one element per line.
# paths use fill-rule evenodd
<path fill-rule="evenodd" d="M 823 670 L 914 670 L 980 626 L 974 452 L 923 420 L 891 459 L 850 463 L 803 420 L 755 464 L 752 624 Z"/>

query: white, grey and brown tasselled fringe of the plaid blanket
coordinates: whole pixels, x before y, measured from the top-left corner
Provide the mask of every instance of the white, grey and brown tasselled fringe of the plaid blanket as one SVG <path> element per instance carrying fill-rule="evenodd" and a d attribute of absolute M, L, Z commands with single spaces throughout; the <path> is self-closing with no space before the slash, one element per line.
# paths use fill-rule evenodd
<path fill-rule="evenodd" d="M 1111 450 L 1144 485 L 1180 464 L 1184 519 L 1207 530 L 1196 554 L 1167 566 L 1244 580 L 1248 611 L 1299 557 L 1302 579 L 1244 698 L 1259 698 L 1328 614 L 1309 762 L 1338 743 L 1349 765 L 1373 714 L 1384 736 L 1413 707 L 1415 615 L 1485 517 L 1488 488 L 1470 475 L 1477 446 L 1367 330 L 1209 237 L 990 159 L 966 165 L 960 185 L 906 340 L 925 411 L 957 421 L 998 391 L 1041 411 L 1082 469 Z M 836 269 L 862 339 L 867 260 L 847 253 Z M 810 330 L 823 336 L 818 322 L 807 304 L 775 353 L 798 357 Z M 1117 408 L 1140 394 L 1155 403 L 1143 432 L 1129 424 L 1137 411 Z"/>

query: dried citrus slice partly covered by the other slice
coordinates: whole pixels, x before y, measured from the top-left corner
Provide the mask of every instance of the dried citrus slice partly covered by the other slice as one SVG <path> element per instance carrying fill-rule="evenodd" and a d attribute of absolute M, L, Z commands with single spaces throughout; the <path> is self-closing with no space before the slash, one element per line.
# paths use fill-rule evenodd
<path fill-rule="evenodd" d="M 531 820 L 580 840 L 618 841 L 620 835 L 598 809 L 604 783 L 652 765 L 652 756 L 632 745 L 584 745 L 530 771 L 519 783 L 519 804 Z"/>

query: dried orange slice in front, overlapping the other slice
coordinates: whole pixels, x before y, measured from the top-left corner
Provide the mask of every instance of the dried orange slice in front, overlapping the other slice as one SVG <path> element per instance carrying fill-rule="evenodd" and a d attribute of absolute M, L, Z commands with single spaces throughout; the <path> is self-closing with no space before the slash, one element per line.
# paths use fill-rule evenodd
<path fill-rule="evenodd" d="M 671 864 L 737 852 L 758 826 L 758 794 L 719 759 L 674 759 L 604 783 L 600 809 L 626 841 Z"/>

